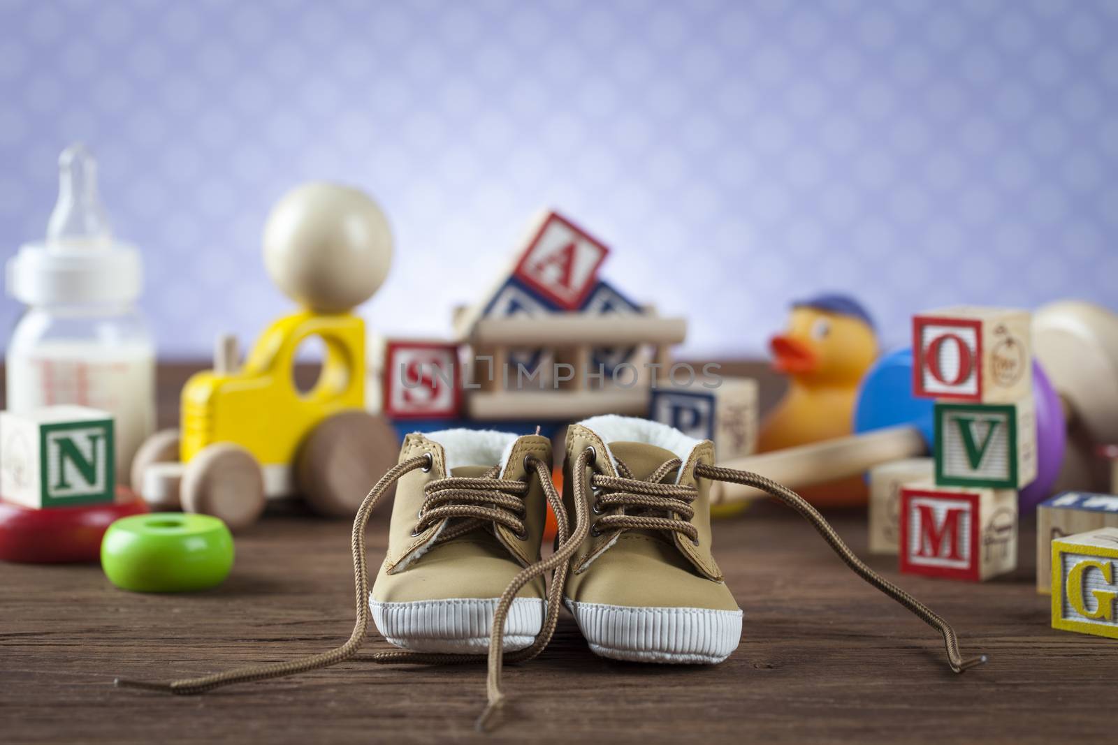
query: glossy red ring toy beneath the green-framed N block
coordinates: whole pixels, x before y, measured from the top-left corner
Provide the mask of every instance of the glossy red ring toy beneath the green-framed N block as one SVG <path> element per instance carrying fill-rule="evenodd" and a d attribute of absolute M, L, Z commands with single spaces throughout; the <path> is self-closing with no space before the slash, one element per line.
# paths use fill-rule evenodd
<path fill-rule="evenodd" d="M 124 487 L 117 502 L 32 509 L 0 500 L 0 560 L 21 564 L 84 564 L 101 561 L 101 538 L 121 517 L 148 512 Z"/>

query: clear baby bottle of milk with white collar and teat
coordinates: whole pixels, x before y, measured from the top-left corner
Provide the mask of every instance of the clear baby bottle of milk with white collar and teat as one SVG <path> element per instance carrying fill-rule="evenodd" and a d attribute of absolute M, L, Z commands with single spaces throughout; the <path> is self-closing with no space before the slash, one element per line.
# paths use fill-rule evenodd
<path fill-rule="evenodd" d="M 134 246 L 113 239 L 94 159 L 73 145 L 58 166 L 46 241 L 8 261 L 8 294 L 27 305 L 8 342 L 8 409 L 77 403 L 113 413 L 116 480 L 126 485 L 155 427 L 155 350 L 134 305 L 143 267 Z"/>

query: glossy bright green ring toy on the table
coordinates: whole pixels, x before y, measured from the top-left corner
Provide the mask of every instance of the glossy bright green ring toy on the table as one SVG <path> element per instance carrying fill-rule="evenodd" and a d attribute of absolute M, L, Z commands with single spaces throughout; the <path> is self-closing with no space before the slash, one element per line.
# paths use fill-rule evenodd
<path fill-rule="evenodd" d="M 105 531 L 101 566 L 122 590 L 206 590 L 221 584 L 233 569 L 233 535 L 225 523 L 209 515 L 124 517 Z"/>

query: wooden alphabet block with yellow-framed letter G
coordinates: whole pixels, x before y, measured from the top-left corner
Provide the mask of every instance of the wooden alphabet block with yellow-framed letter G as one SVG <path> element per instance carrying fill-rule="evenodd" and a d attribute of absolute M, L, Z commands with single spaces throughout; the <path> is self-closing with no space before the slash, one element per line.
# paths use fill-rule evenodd
<path fill-rule="evenodd" d="M 1118 528 L 1052 542 L 1052 628 L 1118 639 Z"/>

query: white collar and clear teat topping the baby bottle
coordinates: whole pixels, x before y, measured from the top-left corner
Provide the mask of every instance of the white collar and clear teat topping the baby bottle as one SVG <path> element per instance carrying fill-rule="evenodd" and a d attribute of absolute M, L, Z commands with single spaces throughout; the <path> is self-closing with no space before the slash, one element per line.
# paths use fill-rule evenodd
<path fill-rule="evenodd" d="M 80 144 L 58 156 L 58 202 L 46 241 L 25 243 L 8 260 L 8 294 L 28 305 L 131 303 L 140 297 L 143 262 L 113 240 L 97 197 L 97 163 Z"/>

